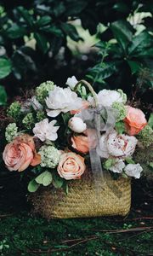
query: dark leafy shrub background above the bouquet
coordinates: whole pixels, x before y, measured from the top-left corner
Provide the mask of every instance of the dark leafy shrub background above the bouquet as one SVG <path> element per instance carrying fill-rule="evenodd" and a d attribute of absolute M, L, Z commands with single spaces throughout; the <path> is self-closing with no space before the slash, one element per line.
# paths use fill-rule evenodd
<path fill-rule="evenodd" d="M 150 0 L 0 1 L 0 105 L 45 80 L 153 98 Z"/>

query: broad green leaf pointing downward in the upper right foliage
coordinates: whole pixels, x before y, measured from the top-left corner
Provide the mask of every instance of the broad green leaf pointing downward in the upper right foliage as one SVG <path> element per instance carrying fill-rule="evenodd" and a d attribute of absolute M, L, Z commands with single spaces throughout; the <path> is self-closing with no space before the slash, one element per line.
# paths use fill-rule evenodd
<path fill-rule="evenodd" d="M 133 26 L 126 20 L 117 20 L 111 23 L 111 30 L 124 52 L 127 52 L 127 45 L 133 39 Z"/>

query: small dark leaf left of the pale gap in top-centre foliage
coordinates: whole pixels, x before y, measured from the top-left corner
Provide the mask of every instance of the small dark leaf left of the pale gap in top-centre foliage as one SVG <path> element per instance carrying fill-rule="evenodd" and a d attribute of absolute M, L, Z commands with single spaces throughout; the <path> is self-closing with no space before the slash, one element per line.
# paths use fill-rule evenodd
<path fill-rule="evenodd" d="M 61 23 L 61 28 L 67 36 L 69 36 L 74 41 L 79 41 L 81 38 L 78 35 L 77 29 L 75 26 L 68 23 Z"/>

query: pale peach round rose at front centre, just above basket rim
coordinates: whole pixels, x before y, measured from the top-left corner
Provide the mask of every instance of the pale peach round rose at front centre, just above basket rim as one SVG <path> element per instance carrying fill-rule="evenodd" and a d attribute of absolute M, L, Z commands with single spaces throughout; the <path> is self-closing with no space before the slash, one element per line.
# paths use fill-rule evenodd
<path fill-rule="evenodd" d="M 60 177 L 64 177 L 66 180 L 78 179 L 85 169 L 84 158 L 81 155 L 69 152 L 60 156 L 59 166 L 57 167 Z"/>

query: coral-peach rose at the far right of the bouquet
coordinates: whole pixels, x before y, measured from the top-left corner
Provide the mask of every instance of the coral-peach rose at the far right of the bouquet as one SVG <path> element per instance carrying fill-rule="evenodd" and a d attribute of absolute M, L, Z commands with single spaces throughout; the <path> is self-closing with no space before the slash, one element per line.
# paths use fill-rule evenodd
<path fill-rule="evenodd" d="M 144 113 L 138 108 L 129 106 L 127 106 L 127 116 L 124 119 L 124 123 L 128 135 L 138 134 L 147 125 Z"/>

